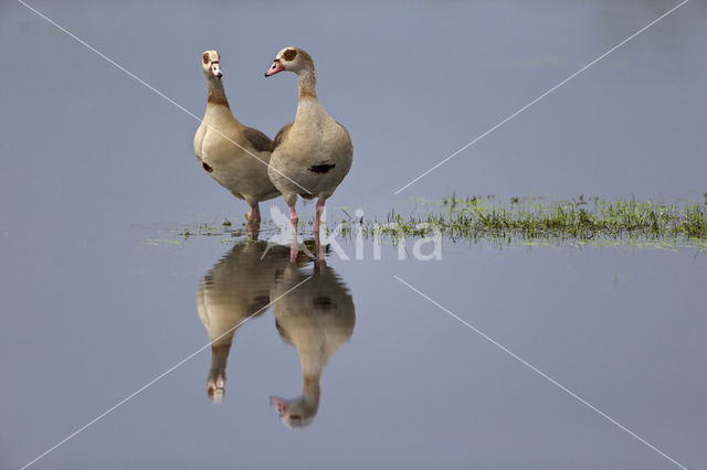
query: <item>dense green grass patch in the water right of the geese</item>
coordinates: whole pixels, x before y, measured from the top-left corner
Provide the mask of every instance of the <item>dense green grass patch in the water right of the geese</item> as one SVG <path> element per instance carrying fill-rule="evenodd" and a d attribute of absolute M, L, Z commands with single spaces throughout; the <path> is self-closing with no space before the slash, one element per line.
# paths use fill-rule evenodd
<path fill-rule="evenodd" d="M 418 201 L 420 203 L 420 201 Z M 434 207 L 435 204 L 428 204 Z M 382 228 L 372 223 L 367 234 L 378 229 L 391 237 L 441 234 L 456 239 L 591 241 L 683 238 L 707 241 L 707 195 L 705 204 L 667 204 L 652 201 L 574 201 L 544 203 L 537 199 L 513 197 L 509 203 L 493 197 L 455 196 L 442 200 L 442 210 L 402 216 L 389 213 Z M 420 212 L 420 211 L 418 211 Z"/>

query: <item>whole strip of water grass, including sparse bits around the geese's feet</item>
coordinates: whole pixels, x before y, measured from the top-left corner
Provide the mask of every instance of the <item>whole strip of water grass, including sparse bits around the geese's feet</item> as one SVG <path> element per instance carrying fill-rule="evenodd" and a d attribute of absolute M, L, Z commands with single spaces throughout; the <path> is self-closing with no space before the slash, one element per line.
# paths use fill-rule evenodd
<path fill-rule="evenodd" d="M 494 196 L 453 195 L 440 201 L 418 200 L 413 210 L 404 214 L 391 211 L 383 217 L 369 218 L 358 213 L 352 216 L 346 209 L 340 211 L 341 220 L 329 215 L 330 233 L 336 227 L 337 236 L 345 239 L 360 234 L 393 245 L 403 238 L 441 236 L 453 243 L 707 248 L 707 193 L 701 202 L 683 203 L 584 196 L 571 201 L 546 202 L 539 197 L 500 201 Z M 312 221 L 300 224 L 309 228 Z M 273 222 L 264 222 L 260 232 L 261 238 L 268 238 L 278 228 Z M 240 239 L 249 235 L 249 228 L 245 222 L 225 220 L 192 225 L 177 234 L 184 241 L 194 235 Z"/>

